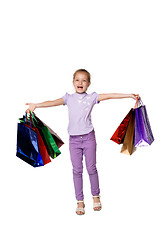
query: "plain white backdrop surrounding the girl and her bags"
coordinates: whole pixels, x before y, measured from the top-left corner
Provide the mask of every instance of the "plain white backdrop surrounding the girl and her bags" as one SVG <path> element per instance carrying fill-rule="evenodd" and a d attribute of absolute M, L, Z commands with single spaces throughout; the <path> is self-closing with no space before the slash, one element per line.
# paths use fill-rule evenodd
<path fill-rule="evenodd" d="M 1 239 L 160 239 L 159 12 L 158 0 L 1 1 Z M 34 169 L 15 156 L 25 103 L 73 93 L 79 68 L 91 72 L 88 93 L 139 93 L 155 137 L 123 155 L 109 139 L 134 100 L 94 107 L 103 209 L 92 210 L 84 168 L 82 217 L 75 214 L 67 107 L 35 111 L 65 142 L 59 157 Z"/>

